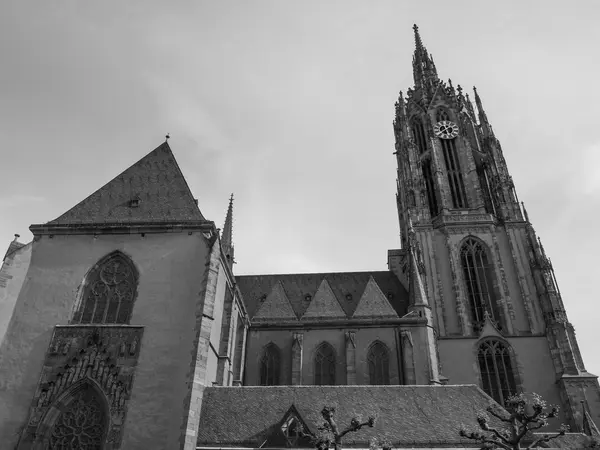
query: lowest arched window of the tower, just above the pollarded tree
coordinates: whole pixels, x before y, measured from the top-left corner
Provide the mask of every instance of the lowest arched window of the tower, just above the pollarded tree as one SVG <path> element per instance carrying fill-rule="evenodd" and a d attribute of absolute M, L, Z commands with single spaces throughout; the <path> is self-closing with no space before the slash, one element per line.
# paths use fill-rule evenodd
<path fill-rule="evenodd" d="M 486 340 L 477 352 L 482 388 L 501 405 L 517 393 L 510 349 L 498 340 Z"/>

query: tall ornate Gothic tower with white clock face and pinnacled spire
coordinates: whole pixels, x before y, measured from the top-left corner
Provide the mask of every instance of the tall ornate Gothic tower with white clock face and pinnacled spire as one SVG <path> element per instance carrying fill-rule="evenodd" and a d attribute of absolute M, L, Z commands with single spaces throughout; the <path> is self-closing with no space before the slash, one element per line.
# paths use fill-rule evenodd
<path fill-rule="evenodd" d="M 600 419 L 597 377 L 583 365 L 549 258 L 521 209 L 500 141 L 474 88 L 442 81 L 414 26 L 414 87 L 396 103 L 397 205 L 405 281 L 416 247 L 442 373 L 503 402 L 537 392 L 572 429 Z M 410 244 L 413 234 L 415 244 Z"/>

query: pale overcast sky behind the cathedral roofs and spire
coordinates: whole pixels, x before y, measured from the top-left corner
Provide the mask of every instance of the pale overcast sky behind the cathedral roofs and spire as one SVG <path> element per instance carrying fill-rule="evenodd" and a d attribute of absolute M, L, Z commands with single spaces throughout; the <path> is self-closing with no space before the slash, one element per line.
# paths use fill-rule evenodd
<path fill-rule="evenodd" d="M 597 1 L 28 1 L 0 14 L 0 242 L 170 144 L 238 274 L 385 270 L 412 24 L 476 85 L 600 374 Z"/>

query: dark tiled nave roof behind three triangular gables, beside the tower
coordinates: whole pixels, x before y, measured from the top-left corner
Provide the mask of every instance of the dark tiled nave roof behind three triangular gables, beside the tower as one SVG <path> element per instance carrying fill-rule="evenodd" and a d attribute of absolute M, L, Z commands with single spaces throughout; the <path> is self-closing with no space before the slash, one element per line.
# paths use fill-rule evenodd
<path fill-rule="evenodd" d="M 281 282 L 296 316 L 301 318 L 321 282 L 327 280 L 346 316 L 351 318 L 371 276 L 396 313 L 400 317 L 406 314 L 408 292 L 396 275 L 389 271 L 243 275 L 235 278 L 250 317 L 254 316 L 273 286 Z"/>

